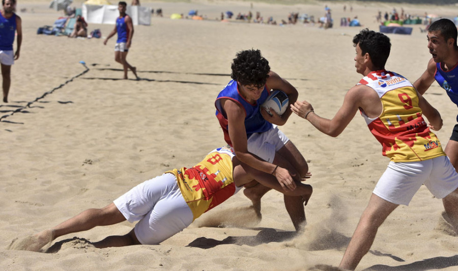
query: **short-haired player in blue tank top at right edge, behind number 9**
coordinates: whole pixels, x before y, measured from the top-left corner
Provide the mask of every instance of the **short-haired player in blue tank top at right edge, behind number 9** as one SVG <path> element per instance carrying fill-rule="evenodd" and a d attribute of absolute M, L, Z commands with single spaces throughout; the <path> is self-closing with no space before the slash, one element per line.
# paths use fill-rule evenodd
<path fill-rule="evenodd" d="M 433 58 L 428 62 L 424 73 L 413 84 L 420 94 L 424 94 L 436 81 L 456 105 L 458 105 L 457 36 L 456 25 L 449 19 L 440 19 L 430 25 L 426 37 Z M 456 121 L 458 122 L 458 116 Z M 444 151 L 455 170 L 458 170 L 458 124 L 453 127 Z"/>

